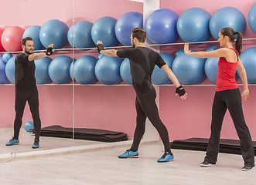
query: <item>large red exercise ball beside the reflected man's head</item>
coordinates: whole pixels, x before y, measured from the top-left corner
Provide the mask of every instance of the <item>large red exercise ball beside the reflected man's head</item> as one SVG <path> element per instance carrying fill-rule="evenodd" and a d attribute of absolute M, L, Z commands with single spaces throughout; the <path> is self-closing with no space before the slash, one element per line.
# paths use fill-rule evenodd
<path fill-rule="evenodd" d="M 2 46 L 7 52 L 22 51 L 22 35 L 25 30 L 19 26 L 9 26 L 2 32 Z"/>

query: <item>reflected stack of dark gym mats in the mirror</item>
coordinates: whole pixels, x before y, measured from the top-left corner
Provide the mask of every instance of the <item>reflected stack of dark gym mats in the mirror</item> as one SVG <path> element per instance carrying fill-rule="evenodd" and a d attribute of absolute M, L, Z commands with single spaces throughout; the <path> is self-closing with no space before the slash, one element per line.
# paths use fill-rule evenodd
<path fill-rule="evenodd" d="M 72 138 L 73 129 L 63 126 L 46 126 L 41 129 L 40 136 L 52 136 L 62 138 Z M 74 138 L 77 140 L 94 140 L 103 142 L 116 142 L 128 140 L 126 133 L 114 132 L 110 130 L 75 128 Z"/>

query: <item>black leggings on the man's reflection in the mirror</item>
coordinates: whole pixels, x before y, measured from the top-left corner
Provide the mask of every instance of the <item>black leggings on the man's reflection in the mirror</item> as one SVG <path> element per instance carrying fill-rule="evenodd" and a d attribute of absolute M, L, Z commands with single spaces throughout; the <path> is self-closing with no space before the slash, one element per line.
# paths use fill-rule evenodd
<path fill-rule="evenodd" d="M 39 99 L 37 89 L 26 92 L 15 92 L 15 121 L 14 121 L 14 138 L 19 138 L 19 130 L 22 126 L 22 116 L 26 106 L 29 103 L 29 109 L 32 114 L 35 129 L 35 139 L 39 140 L 41 131 L 41 120 L 39 118 Z"/>

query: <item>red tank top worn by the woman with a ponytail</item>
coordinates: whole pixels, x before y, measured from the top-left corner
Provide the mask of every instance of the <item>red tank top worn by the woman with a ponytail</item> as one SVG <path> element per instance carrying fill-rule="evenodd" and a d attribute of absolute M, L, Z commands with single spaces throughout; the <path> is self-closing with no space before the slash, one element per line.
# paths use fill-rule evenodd
<path fill-rule="evenodd" d="M 232 50 L 236 52 L 238 62 L 238 53 L 235 49 Z M 225 60 L 223 57 L 220 57 L 218 62 L 216 91 L 224 91 L 238 88 L 235 79 L 235 75 L 237 72 L 237 62 L 227 62 L 227 60 Z"/>

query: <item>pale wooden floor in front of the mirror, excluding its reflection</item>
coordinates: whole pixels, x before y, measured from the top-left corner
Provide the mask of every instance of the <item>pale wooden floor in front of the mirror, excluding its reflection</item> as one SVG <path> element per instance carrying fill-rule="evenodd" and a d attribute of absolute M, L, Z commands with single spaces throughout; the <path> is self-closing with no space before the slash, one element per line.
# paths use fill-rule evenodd
<path fill-rule="evenodd" d="M 157 163 L 162 143 L 144 143 L 138 159 L 118 159 L 127 146 L 85 153 L 0 163 L 0 182 L 9 184 L 256 184 L 256 170 L 241 171 L 240 155 L 219 154 L 215 167 L 200 167 L 205 152 L 172 150 L 175 160 Z"/>

